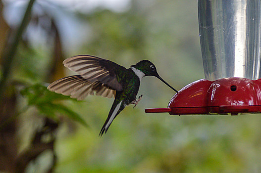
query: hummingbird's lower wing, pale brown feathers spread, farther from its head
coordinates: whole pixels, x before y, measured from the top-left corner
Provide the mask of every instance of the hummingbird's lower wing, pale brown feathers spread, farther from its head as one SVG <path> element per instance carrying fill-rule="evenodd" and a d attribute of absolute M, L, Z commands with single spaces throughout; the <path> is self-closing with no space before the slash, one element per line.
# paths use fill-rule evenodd
<path fill-rule="evenodd" d="M 116 90 L 102 84 L 99 81 L 90 82 L 81 75 L 69 76 L 59 79 L 48 86 L 48 89 L 63 95 L 70 95 L 77 100 L 84 99 L 88 94 L 101 95 L 111 98 L 115 96 Z"/>

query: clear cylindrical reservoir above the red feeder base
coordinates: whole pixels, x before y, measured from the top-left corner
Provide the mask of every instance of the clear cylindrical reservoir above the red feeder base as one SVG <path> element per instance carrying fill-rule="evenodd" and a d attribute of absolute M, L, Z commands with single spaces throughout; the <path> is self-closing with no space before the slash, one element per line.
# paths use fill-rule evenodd
<path fill-rule="evenodd" d="M 198 0 L 205 78 L 260 78 L 261 0 Z"/>

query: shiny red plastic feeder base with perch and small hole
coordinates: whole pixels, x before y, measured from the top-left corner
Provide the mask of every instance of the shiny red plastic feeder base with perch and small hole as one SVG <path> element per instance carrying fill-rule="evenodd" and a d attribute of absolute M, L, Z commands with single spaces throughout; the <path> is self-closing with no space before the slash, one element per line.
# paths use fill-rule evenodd
<path fill-rule="evenodd" d="M 145 109 L 146 113 L 228 114 L 261 112 L 261 79 L 202 79 L 183 87 L 170 100 L 168 108 Z"/>

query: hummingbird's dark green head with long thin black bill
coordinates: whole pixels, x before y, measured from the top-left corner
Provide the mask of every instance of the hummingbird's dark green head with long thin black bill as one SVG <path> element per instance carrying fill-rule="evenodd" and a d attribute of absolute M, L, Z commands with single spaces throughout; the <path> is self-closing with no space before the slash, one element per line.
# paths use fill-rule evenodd
<path fill-rule="evenodd" d="M 142 60 L 138 62 L 135 65 L 132 65 L 131 67 L 141 71 L 144 73 L 144 76 L 155 76 L 157 77 L 160 81 L 162 81 L 164 84 L 166 84 L 168 87 L 173 89 L 174 91 L 178 92 L 175 88 L 171 87 L 168 83 L 166 83 L 157 73 L 155 65 L 148 60 Z"/>

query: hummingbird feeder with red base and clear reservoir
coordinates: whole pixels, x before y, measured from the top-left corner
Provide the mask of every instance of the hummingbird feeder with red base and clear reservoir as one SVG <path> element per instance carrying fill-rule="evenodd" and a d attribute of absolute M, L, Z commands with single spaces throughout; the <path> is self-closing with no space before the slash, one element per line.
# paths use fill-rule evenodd
<path fill-rule="evenodd" d="M 261 112 L 261 0 L 198 0 L 205 78 L 147 113 Z"/>

